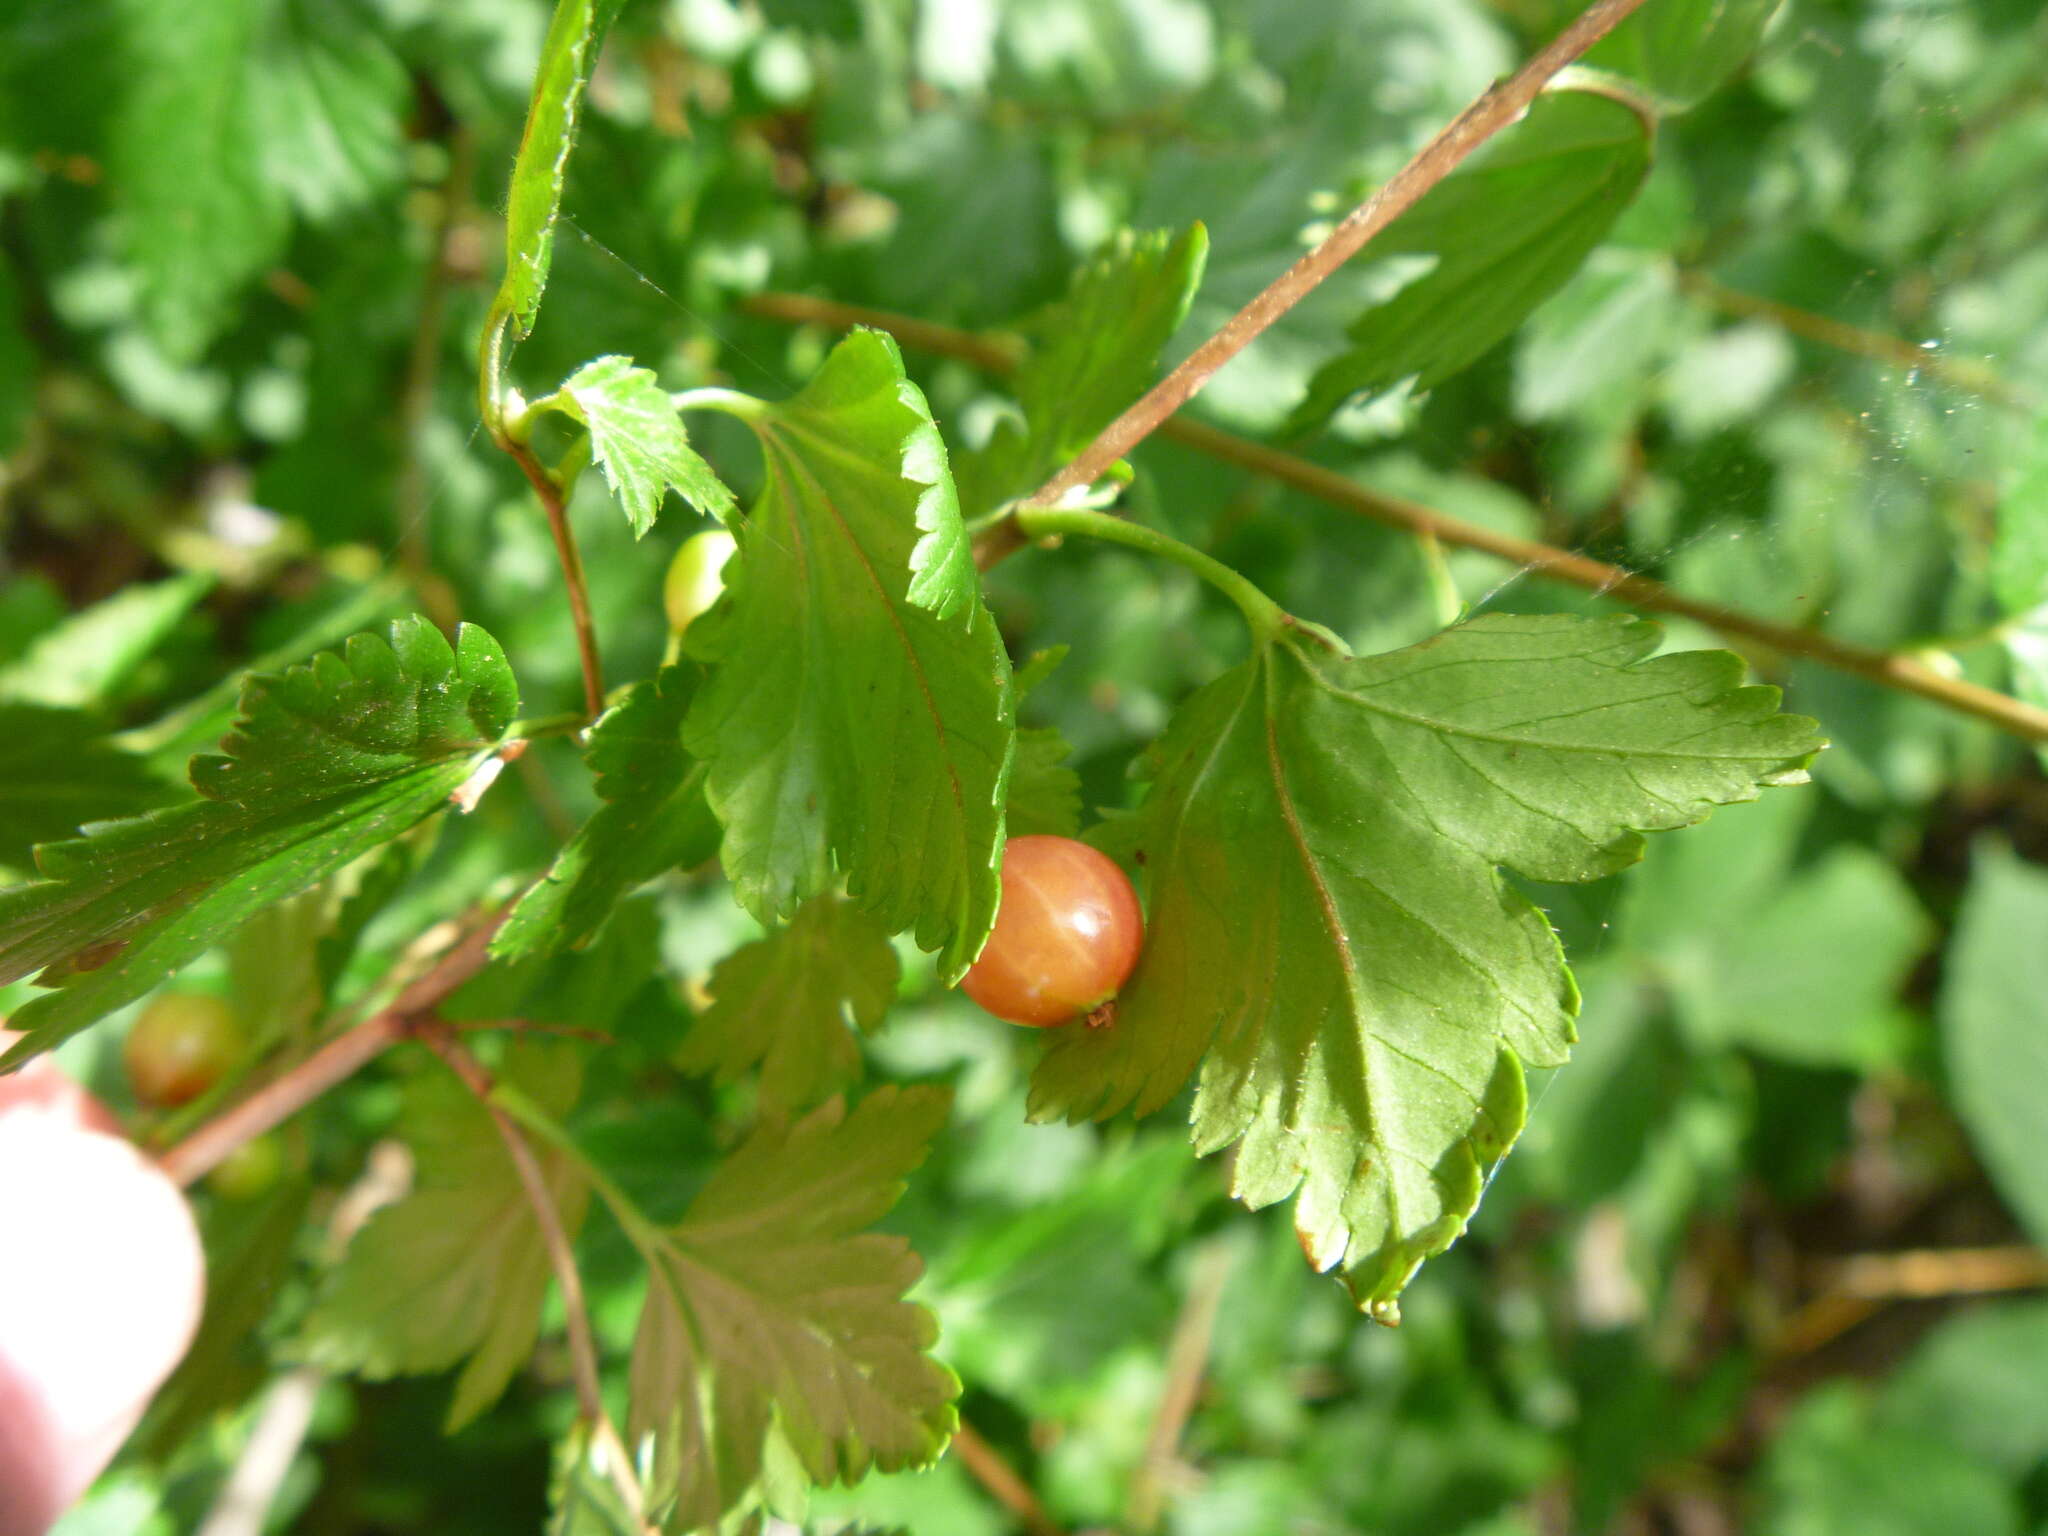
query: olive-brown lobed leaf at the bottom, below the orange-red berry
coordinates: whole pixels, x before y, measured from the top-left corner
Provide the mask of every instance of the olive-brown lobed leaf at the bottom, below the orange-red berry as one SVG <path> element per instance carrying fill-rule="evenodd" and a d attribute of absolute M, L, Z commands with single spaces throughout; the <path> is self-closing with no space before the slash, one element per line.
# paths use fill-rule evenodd
<path fill-rule="evenodd" d="M 651 1438 L 649 1499 L 692 1530 L 762 1473 L 770 1436 L 813 1483 L 928 1464 L 961 1384 L 926 1350 L 932 1315 L 901 1237 L 862 1231 L 901 1196 L 946 1118 L 936 1087 L 883 1087 L 764 1124 L 645 1251 L 629 1438 Z"/>

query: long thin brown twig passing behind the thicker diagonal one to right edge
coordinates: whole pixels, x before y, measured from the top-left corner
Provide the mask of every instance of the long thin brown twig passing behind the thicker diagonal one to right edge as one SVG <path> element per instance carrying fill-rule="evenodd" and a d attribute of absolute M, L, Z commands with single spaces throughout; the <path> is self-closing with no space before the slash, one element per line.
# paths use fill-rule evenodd
<path fill-rule="evenodd" d="M 745 307 L 756 315 L 791 324 L 872 326 L 877 330 L 887 330 L 905 342 L 909 342 L 915 334 L 918 340 L 911 342 L 913 346 L 928 348 L 942 356 L 956 356 L 965 362 L 977 362 L 979 367 L 989 369 L 989 373 L 1008 373 L 1016 358 L 1014 348 L 1001 340 L 991 342 L 987 338 L 973 336 L 971 332 L 956 332 L 924 322 L 909 328 L 903 324 L 901 315 L 893 315 L 883 309 L 834 303 L 829 299 L 811 299 L 793 293 L 756 293 L 748 299 Z M 1636 575 L 1632 571 L 1624 571 L 1620 565 L 1608 565 L 1606 561 L 1589 559 L 1587 555 L 1575 555 L 1569 549 L 1559 549 L 1556 545 L 1542 545 L 1534 539 L 1516 539 L 1507 532 L 1495 532 L 1493 528 L 1477 522 L 1464 522 L 1462 518 L 1421 506 L 1419 502 L 1386 496 L 1384 492 L 1370 489 L 1354 479 L 1348 479 L 1346 475 L 1339 475 L 1335 469 L 1325 469 L 1323 465 L 1282 453 L 1280 449 L 1268 449 L 1264 442 L 1223 432 L 1221 428 L 1196 422 L 1188 416 L 1167 420 L 1161 426 L 1161 436 L 1184 442 L 1190 449 L 1206 453 L 1214 459 L 1251 469 L 1260 475 L 1270 475 L 1272 479 L 1284 481 L 1298 492 L 1307 492 L 1321 502 L 1341 506 L 1348 512 L 1358 512 L 1374 522 L 1384 522 L 1389 528 L 1411 532 L 1417 539 L 1436 539 L 1444 545 L 1477 549 L 1485 555 L 1495 555 L 1509 565 L 1518 565 L 1556 582 L 1569 582 L 1571 586 L 1585 588 L 1587 592 L 1604 598 L 1618 598 L 1653 612 L 1679 614 L 1681 618 L 1702 623 L 1731 639 L 1755 641 L 1784 655 L 1798 655 L 1808 662 L 1831 666 L 1837 672 L 1855 674 L 1886 688 L 1929 698 L 1944 709 L 1987 721 L 2021 741 L 2048 741 L 2048 711 L 1962 678 L 1948 678 L 1911 655 L 1876 651 L 1864 645 L 1837 641 L 1812 629 L 1774 625 L 1767 618 L 1757 618 L 1741 612 L 1739 608 L 1698 602 L 1681 592 L 1673 592 L 1655 578 Z"/>

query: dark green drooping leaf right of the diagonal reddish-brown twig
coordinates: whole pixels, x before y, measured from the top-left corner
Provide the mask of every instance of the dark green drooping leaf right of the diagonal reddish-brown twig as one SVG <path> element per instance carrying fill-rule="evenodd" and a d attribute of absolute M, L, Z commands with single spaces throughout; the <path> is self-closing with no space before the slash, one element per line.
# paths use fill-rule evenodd
<path fill-rule="evenodd" d="M 1649 127 L 1628 106 L 1583 90 L 1538 96 L 1372 242 L 1374 258 L 1432 264 L 1352 322 L 1352 348 L 1317 371 L 1290 430 L 1352 395 L 1403 379 L 1427 389 L 1479 360 L 1579 268 L 1649 164 Z"/>

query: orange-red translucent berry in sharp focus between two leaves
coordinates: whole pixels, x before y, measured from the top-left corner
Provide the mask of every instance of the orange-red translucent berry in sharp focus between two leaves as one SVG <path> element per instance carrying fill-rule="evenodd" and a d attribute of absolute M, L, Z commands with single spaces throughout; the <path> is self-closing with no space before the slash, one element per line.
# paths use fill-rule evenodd
<path fill-rule="evenodd" d="M 1047 1028 L 1098 1016 L 1145 948 L 1145 913 L 1116 864 L 1073 838 L 1012 838 L 995 932 L 961 989 L 995 1018 Z"/>

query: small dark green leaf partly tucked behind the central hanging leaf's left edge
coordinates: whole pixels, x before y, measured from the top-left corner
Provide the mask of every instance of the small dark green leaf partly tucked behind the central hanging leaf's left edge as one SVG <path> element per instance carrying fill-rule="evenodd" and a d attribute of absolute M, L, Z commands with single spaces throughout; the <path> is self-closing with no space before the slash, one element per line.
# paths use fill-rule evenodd
<path fill-rule="evenodd" d="M 604 807 L 555 856 L 492 942 L 498 958 L 586 944 L 635 885 L 702 864 L 719 850 L 705 803 L 705 764 L 682 748 L 700 670 L 662 668 L 604 711 L 586 760 Z"/>

